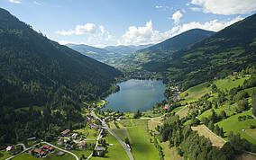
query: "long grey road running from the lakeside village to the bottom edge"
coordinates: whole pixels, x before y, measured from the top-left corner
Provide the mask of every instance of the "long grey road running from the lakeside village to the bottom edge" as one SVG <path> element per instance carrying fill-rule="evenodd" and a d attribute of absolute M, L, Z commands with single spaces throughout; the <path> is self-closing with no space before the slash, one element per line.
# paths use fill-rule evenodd
<path fill-rule="evenodd" d="M 130 151 L 130 148 L 126 146 L 126 144 L 114 133 L 113 130 L 111 130 L 111 129 L 108 128 L 108 126 L 105 124 L 105 121 L 99 119 L 99 118 L 96 116 L 96 114 L 95 114 L 94 111 L 91 111 L 91 115 L 94 116 L 97 120 L 100 120 L 100 121 L 102 122 L 103 128 L 104 128 L 104 129 L 107 129 L 108 132 L 109 132 L 110 134 L 112 134 L 112 135 L 114 136 L 114 138 L 116 138 L 116 139 L 119 141 L 119 143 L 123 146 L 123 148 L 124 148 L 124 150 L 125 150 L 127 156 L 129 156 L 130 160 L 133 160 L 133 155 L 132 155 L 132 153 L 131 153 L 131 151 Z"/>

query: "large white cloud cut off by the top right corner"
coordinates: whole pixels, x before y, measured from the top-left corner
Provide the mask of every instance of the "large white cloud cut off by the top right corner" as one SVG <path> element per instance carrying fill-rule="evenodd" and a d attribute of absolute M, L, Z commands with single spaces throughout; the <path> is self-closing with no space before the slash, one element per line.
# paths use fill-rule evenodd
<path fill-rule="evenodd" d="M 191 0 L 190 4 L 201 6 L 204 13 L 231 15 L 256 11 L 255 0 Z"/>

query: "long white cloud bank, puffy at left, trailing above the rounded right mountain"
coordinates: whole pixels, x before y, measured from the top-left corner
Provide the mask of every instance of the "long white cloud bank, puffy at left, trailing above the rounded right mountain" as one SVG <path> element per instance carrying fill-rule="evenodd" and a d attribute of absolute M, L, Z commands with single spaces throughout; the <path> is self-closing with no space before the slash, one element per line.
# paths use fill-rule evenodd
<path fill-rule="evenodd" d="M 130 26 L 128 31 L 123 34 L 122 40 L 118 40 L 118 44 L 123 45 L 142 45 L 149 43 L 159 43 L 162 40 L 169 39 L 184 31 L 192 29 L 203 29 L 207 31 L 220 31 L 234 22 L 241 21 L 243 18 L 237 16 L 229 22 L 220 22 L 219 20 L 212 20 L 209 22 L 188 22 L 182 25 L 176 25 L 169 31 L 154 31 L 152 22 L 147 22 L 145 26 L 135 27 Z"/>

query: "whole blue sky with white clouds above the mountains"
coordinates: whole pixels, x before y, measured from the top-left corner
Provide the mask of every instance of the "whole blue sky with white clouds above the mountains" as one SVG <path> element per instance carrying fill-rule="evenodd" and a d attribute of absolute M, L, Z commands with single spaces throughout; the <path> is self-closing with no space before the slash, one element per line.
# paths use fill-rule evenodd
<path fill-rule="evenodd" d="M 220 31 L 256 13 L 255 1 L 0 0 L 0 7 L 60 44 L 103 48 L 158 43 L 194 28 Z"/>

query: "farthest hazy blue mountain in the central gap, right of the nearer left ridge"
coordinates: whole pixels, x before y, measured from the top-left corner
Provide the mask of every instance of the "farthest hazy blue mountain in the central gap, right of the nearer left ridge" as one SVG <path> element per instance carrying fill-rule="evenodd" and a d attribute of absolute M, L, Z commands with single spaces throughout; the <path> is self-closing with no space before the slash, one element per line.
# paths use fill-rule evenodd
<path fill-rule="evenodd" d="M 119 46 L 107 46 L 107 47 L 105 47 L 104 49 L 125 56 L 125 55 L 130 55 L 130 54 L 132 54 L 133 52 L 135 52 L 135 51 L 137 51 L 137 50 L 145 49 L 145 48 L 148 48 L 148 47 L 151 47 L 151 46 L 152 46 L 152 44 L 139 45 L 139 46 L 134 46 L 134 45 L 129 45 L 129 46 L 119 45 Z"/>

